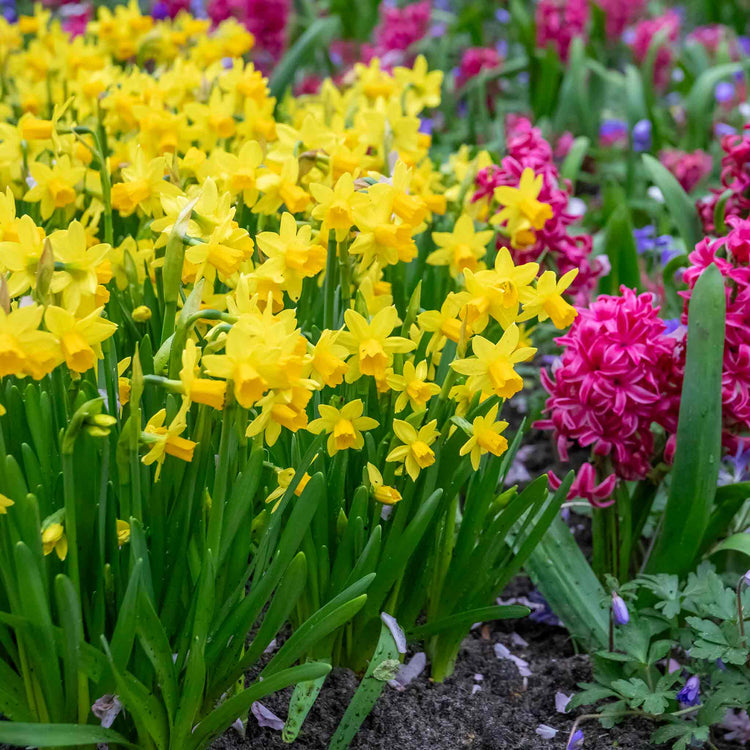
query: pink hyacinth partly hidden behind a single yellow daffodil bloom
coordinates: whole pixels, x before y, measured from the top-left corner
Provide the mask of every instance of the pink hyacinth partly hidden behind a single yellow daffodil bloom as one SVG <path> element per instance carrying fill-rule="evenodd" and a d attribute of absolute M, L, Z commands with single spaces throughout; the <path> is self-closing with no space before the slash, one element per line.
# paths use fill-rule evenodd
<path fill-rule="evenodd" d="M 536 232 L 536 242 L 524 250 L 513 249 L 517 263 L 536 261 L 543 254 L 553 262 L 560 274 L 577 268 L 578 276 L 570 293 L 576 304 L 586 304 L 596 288 L 597 280 L 606 270 L 604 265 L 591 258 L 592 238 L 589 234 L 571 234 L 569 227 L 579 217 L 568 213 L 570 185 L 559 175 L 553 160 L 550 144 L 539 128 L 525 117 L 510 116 L 506 122 L 506 148 L 508 155 L 500 166 L 492 165 L 480 170 L 475 180 L 472 201 L 491 200 L 496 187 L 517 187 L 523 170 L 531 168 L 542 175 L 539 200 L 552 208 L 552 218 Z M 499 242 L 506 242 L 500 239 Z"/>

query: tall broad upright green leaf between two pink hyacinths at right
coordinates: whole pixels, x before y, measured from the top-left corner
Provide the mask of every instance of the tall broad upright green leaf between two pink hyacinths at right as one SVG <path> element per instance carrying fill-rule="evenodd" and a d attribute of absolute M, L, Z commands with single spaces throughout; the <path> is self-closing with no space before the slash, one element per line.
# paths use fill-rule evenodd
<path fill-rule="evenodd" d="M 647 563 L 649 573 L 686 574 L 711 514 L 721 457 L 724 319 L 724 279 L 711 264 L 690 299 L 677 448 L 664 523 Z"/>

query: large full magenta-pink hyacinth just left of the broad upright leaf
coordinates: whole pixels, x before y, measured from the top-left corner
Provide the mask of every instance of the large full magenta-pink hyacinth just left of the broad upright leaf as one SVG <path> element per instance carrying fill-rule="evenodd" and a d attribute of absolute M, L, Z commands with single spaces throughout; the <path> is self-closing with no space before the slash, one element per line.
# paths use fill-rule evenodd
<path fill-rule="evenodd" d="M 651 425 L 676 430 L 681 344 L 666 334 L 652 295 L 626 287 L 621 295 L 579 308 L 570 331 L 556 339 L 564 351 L 551 375 L 542 372 L 549 416 L 536 426 L 554 431 L 563 460 L 575 442 L 632 480 L 651 469 Z"/>

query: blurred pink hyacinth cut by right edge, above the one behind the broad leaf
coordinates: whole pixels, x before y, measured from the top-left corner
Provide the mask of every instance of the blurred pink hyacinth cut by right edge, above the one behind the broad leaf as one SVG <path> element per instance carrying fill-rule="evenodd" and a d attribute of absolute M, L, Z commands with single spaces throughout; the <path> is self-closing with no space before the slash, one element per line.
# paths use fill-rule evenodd
<path fill-rule="evenodd" d="M 742 133 L 721 139 L 724 157 L 721 160 L 721 187 L 712 188 L 708 198 L 696 202 L 706 234 L 713 234 L 714 209 L 722 193 L 730 190 L 724 204 L 724 216 L 747 217 L 750 213 L 750 127 Z"/>

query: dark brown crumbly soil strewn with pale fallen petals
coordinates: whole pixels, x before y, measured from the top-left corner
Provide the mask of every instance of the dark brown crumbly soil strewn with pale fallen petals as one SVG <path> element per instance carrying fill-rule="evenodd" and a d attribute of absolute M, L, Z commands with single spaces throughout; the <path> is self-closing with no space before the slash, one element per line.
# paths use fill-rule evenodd
<path fill-rule="evenodd" d="M 513 639 L 516 631 L 528 642 L 521 647 Z M 532 676 L 524 689 L 514 664 L 500 661 L 493 645 L 502 643 L 529 663 Z M 475 675 L 482 675 L 477 682 Z M 535 750 L 565 747 L 573 723 L 571 715 L 557 713 L 555 693 L 571 694 L 576 684 L 590 679 L 588 659 L 574 653 L 562 628 L 533 623 L 477 629 L 464 642 L 456 671 L 444 683 L 430 681 L 426 674 L 399 693 L 386 686 L 373 712 L 365 720 L 352 748 L 409 748 L 409 750 Z M 474 685 L 481 690 L 472 694 Z M 343 715 L 357 687 L 357 678 L 346 670 L 334 670 L 313 706 L 296 743 L 305 750 L 323 749 Z M 285 716 L 290 691 L 264 701 L 281 718 Z M 560 730 L 552 740 L 536 734 L 540 724 Z M 601 748 L 647 748 L 649 727 L 634 723 L 604 730 L 596 723 L 584 726 L 586 750 Z M 257 726 L 250 717 L 248 737 L 242 740 L 234 731 L 212 746 L 213 750 L 286 747 L 281 733 Z"/>

